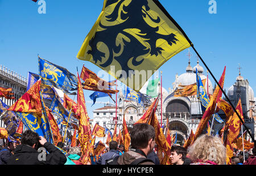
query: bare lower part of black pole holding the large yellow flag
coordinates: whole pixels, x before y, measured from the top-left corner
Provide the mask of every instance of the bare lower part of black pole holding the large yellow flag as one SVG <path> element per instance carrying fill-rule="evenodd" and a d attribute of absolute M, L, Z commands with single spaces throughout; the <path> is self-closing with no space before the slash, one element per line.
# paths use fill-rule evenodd
<path fill-rule="evenodd" d="M 188 40 L 189 41 L 189 40 Z M 210 75 L 212 76 L 212 78 L 214 79 L 214 81 L 217 83 L 218 87 L 221 89 L 223 95 L 226 97 L 226 99 L 228 100 L 229 104 L 232 106 L 234 112 L 237 114 L 238 118 L 240 119 L 240 121 L 242 122 L 243 126 L 245 126 L 245 130 L 248 132 L 248 134 L 251 136 L 251 139 L 253 140 L 253 142 L 255 143 L 255 139 L 254 136 L 251 134 L 251 132 L 249 131 L 249 129 L 247 128 L 247 126 L 245 125 L 245 122 L 243 122 L 242 118 L 240 117 L 240 115 L 238 114 L 238 112 L 236 111 L 236 108 L 234 108 L 232 102 L 229 100 L 228 96 L 226 95 L 226 93 L 223 91 L 223 89 L 221 88 L 220 84 L 218 84 L 218 81 L 216 80 L 216 78 L 213 76 L 212 72 L 209 70 L 208 66 L 205 64 L 204 60 L 201 58 L 200 54 L 197 52 L 197 50 L 195 49 L 195 47 L 193 46 L 192 42 L 191 42 L 191 47 L 193 48 L 193 50 L 195 51 L 195 53 L 198 55 L 198 57 L 200 58 L 201 62 L 204 64 L 204 66 L 207 68 L 207 70 L 209 71 Z"/>

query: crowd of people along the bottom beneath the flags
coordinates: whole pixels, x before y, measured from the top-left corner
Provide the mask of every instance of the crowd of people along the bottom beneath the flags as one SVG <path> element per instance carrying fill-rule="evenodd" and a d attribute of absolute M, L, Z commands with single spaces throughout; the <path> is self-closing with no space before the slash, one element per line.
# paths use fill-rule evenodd
<path fill-rule="evenodd" d="M 159 165 L 156 151 L 154 127 L 146 123 L 134 125 L 130 131 L 130 148 L 124 152 L 124 146 L 110 141 L 109 148 L 100 155 L 96 165 Z M 2 140 L 3 141 L 3 140 Z M 65 148 L 63 143 L 57 147 L 43 136 L 27 130 L 23 132 L 20 143 L 8 139 L 1 141 L 0 165 L 82 165 L 79 146 Z M 42 149 L 45 151 L 42 152 Z M 63 152 L 65 151 L 65 152 Z M 172 165 L 225 165 L 226 148 L 217 136 L 201 135 L 188 149 L 172 145 L 170 163 Z M 249 151 L 234 148 L 232 165 L 256 165 L 255 147 Z"/>

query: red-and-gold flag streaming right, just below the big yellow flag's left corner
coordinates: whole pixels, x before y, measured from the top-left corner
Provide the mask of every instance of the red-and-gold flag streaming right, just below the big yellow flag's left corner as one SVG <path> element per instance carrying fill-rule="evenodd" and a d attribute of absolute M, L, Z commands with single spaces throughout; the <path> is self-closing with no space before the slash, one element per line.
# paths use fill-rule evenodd
<path fill-rule="evenodd" d="M 80 78 L 85 82 L 82 83 L 82 88 L 90 91 L 99 91 L 104 93 L 118 93 L 118 90 L 112 89 L 111 87 L 115 84 L 113 82 L 105 81 L 99 78 L 93 71 L 90 71 L 85 66 L 82 66 Z M 104 85 L 106 84 L 106 85 Z"/>

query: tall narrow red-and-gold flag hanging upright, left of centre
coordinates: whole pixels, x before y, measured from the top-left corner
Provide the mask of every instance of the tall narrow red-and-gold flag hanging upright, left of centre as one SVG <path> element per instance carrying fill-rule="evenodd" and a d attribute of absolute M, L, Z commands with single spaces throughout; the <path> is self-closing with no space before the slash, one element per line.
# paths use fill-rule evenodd
<path fill-rule="evenodd" d="M 79 142 L 81 144 L 81 162 L 83 164 L 91 164 L 90 160 L 90 123 L 89 116 L 86 110 L 84 92 L 82 91 L 82 85 L 79 78 L 79 74 L 77 73 L 78 83 L 77 83 L 77 108 L 79 111 Z"/>

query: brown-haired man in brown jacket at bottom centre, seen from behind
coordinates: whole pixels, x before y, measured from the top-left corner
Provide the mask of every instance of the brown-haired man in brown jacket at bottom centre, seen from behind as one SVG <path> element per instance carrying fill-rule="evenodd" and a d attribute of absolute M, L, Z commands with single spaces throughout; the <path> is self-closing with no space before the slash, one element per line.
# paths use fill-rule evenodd
<path fill-rule="evenodd" d="M 155 129 L 147 123 L 135 124 L 130 132 L 131 148 L 118 157 L 119 165 L 154 165 L 147 158 L 155 147 Z"/>

